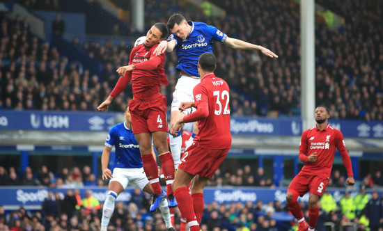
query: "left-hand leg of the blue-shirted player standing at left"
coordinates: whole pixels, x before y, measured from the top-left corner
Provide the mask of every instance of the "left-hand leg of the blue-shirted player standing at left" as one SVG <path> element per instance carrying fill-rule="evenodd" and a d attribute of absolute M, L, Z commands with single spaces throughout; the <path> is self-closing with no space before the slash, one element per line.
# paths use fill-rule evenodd
<path fill-rule="evenodd" d="M 114 212 L 114 204 L 118 195 L 124 191 L 127 183 L 129 182 L 126 177 L 123 177 L 118 171 L 123 169 L 114 169 L 114 178 L 109 182 L 107 198 L 104 201 L 104 207 L 102 208 L 101 218 L 101 231 L 107 231 L 108 224 L 111 218 L 111 214 Z"/>

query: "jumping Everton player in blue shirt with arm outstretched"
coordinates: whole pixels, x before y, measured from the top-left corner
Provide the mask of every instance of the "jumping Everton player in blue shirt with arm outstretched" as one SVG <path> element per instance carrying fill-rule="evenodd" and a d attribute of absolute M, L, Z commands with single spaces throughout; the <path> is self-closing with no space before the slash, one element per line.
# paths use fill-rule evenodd
<path fill-rule="evenodd" d="M 263 54 L 278 58 L 269 49 L 260 45 L 253 45 L 249 42 L 244 42 L 235 38 L 230 38 L 225 33 L 222 33 L 214 26 L 210 26 L 203 22 L 187 22 L 185 17 L 180 14 L 171 15 L 167 26 L 171 29 L 172 35 L 167 41 L 160 42 L 155 54 L 162 54 L 164 51 L 171 52 L 175 49 L 178 57 L 177 70 L 180 71 L 181 77 L 175 85 L 173 93 L 173 102 L 171 103 L 171 124 L 173 127 L 175 122 L 180 118 L 179 106 L 182 102 L 194 102 L 193 88 L 201 82 L 201 77 L 198 75 L 198 57 L 205 52 L 212 53 L 213 42 L 223 42 L 234 49 L 253 49 L 260 50 Z M 189 113 L 184 111 L 183 113 Z M 198 132 L 198 127 L 194 123 L 193 135 L 188 145 Z M 182 137 L 180 132 L 172 136 L 169 134 L 171 154 L 173 156 L 175 169 L 180 164 L 180 152 L 182 145 Z"/>

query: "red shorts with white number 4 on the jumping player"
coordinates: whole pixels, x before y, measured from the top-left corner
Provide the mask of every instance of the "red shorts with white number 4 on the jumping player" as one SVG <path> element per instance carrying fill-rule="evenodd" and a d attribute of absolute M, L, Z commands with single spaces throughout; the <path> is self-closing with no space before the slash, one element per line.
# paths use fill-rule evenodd
<path fill-rule="evenodd" d="M 129 102 L 133 134 L 169 132 L 166 120 L 166 97 L 159 95 L 150 101 L 132 99 Z"/>

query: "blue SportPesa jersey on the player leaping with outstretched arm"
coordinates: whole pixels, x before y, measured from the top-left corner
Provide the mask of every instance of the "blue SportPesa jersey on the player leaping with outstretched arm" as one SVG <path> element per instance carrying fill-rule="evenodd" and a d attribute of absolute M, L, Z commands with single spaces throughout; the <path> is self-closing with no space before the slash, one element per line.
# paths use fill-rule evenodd
<path fill-rule="evenodd" d="M 219 31 L 214 26 L 203 22 L 187 22 L 192 26 L 192 31 L 185 40 L 181 40 L 175 34 L 171 34 L 169 40 L 177 42 L 174 49 L 178 58 L 177 70 L 183 70 L 187 74 L 198 75 L 198 58 L 205 52 L 213 53 L 213 42 L 225 42 L 228 35 Z"/>

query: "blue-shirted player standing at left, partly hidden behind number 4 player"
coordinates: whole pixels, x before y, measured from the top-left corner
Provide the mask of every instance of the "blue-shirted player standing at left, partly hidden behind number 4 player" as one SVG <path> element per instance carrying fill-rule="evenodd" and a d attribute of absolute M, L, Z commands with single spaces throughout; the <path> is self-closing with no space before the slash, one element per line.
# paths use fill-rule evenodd
<path fill-rule="evenodd" d="M 132 132 L 132 120 L 130 119 L 128 107 L 125 109 L 124 116 L 126 118 L 125 122 L 114 125 L 109 131 L 105 148 L 102 152 L 102 180 L 107 180 L 108 178 L 111 180 L 109 182 L 107 198 L 102 209 L 101 231 L 107 231 L 111 214 L 114 212 L 114 202 L 117 196 L 126 189 L 129 182 L 147 193 L 152 195 L 154 193 L 153 187 L 143 171 L 139 144 Z M 108 164 L 113 146 L 116 148 L 116 164 L 112 174 Z M 159 210 L 164 217 L 166 228 L 169 231 L 175 230 L 171 224 L 167 200 L 162 200 Z"/>

